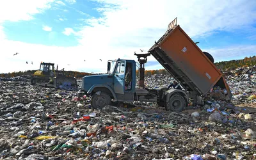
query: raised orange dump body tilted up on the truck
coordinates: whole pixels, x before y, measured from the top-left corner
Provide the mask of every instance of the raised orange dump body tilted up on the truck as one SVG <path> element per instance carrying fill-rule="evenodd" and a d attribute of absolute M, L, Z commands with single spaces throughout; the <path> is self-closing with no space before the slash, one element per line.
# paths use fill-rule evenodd
<path fill-rule="evenodd" d="M 177 19 L 169 24 L 166 33 L 148 52 L 185 90 L 205 95 L 216 84 L 225 88 L 231 99 L 232 94 L 220 70 L 176 22 Z"/>

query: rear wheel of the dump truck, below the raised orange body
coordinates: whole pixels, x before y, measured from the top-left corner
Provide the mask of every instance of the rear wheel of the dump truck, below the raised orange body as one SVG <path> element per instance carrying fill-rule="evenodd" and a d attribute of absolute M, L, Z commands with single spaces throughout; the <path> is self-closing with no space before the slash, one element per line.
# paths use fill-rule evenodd
<path fill-rule="evenodd" d="M 170 97 L 169 102 L 166 104 L 166 110 L 181 112 L 186 106 L 186 100 L 182 95 L 174 94 Z"/>

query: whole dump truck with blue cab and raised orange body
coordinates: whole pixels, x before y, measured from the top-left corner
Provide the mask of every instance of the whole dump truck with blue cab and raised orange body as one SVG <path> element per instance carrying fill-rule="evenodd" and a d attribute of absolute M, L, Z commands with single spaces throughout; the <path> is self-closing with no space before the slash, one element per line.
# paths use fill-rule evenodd
<path fill-rule="evenodd" d="M 79 97 L 84 93 L 92 96 L 91 104 L 95 109 L 102 109 L 112 101 L 141 101 L 157 102 L 159 106 L 176 112 L 182 111 L 191 101 L 194 105 L 203 105 L 204 96 L 214 85 L 225 89 L 226 96 L 232 98 L 228 84 L 214 65 L 211 54 L 202 52 L 185 31 L 177 26 L 177 18 L 169 24 L 166 33 L 147 53 L 135 52 L 134 55 L 140 63 L 138 88 L 136 61 L 109 60 L 107 74 L 83 77 L 82 90 L 77 92 Z M 163 65 L 183 90 L 145 88 L 145 63 L 151 55 Z"/>

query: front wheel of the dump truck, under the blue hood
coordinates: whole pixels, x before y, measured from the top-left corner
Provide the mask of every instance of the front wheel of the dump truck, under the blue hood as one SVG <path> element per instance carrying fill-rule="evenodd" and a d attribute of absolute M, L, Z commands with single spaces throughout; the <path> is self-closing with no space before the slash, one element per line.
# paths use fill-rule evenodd
<path fill-rule="evenodd" d="M 111 103 L 111 98 L 107 93 L 101 92 L 100 95 L 94 93 L 92 96 L 92 108 L 102 109 Z"/>

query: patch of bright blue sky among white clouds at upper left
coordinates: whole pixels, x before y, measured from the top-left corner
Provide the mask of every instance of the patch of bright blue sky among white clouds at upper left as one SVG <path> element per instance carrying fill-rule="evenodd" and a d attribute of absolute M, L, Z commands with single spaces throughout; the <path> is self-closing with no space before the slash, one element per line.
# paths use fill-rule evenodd
<path fill-rule="evenodd" d="M 79 31 L 81 27 L 88 25 L 85 20 L 89 17 L 99 18 L 100 13 L 95 10 L 98 7 L 100 4 L 93 1 L 80 0 L 74 4 L 56 1 L 52 4 L 52 8 L 42 14 L 34 15 L 32 20 L 4 22 L 4 33 L 6 33 L 7 40 L 29 44 L 76 46 L 79 44 L 76 36 L 65 35 L 62 32 L 65 28 Z"/>

